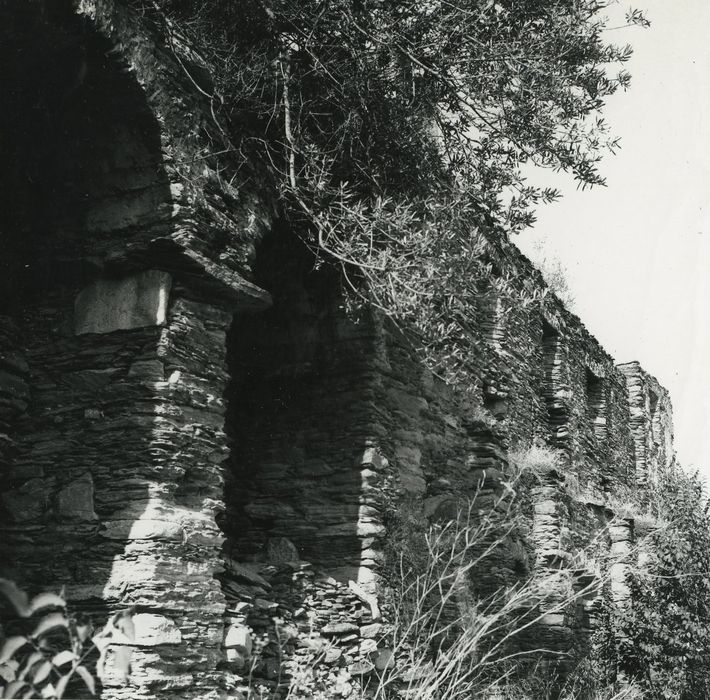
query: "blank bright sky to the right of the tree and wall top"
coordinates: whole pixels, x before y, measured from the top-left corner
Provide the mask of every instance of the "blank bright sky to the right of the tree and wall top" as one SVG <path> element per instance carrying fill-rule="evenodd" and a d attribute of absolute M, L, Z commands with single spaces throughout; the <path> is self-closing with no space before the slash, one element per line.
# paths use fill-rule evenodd
<path fill-rule="evenodd" d="M 516 242 L 542 239 L 587 328 L 670 390 L 678 457 L 710 481 L 710 0 L 634 6 L 651 28 L 609 34 L 634 56 L 605 112 L 622 146 L 608 186 L 555 181 L 563 199 Z"/>

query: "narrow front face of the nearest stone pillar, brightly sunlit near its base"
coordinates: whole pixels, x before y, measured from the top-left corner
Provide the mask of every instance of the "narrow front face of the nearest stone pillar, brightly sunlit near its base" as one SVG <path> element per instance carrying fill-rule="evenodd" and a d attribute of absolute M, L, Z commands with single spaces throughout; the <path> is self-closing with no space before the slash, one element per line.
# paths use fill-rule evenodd
<path fill-rule="evenodd" d="M 215 516 L 223 508 L 230 323 L 226 311 L 173 289 L 154 359 L 129 369 L 155 402 L 150 460 L 133 474 L 147 499 L 127 502 L 104 524 L 101 534 L 122 546 L 104 596 L 141 614 L 131 686 L 107 697 L 220 696 L 225 605 Z"/>

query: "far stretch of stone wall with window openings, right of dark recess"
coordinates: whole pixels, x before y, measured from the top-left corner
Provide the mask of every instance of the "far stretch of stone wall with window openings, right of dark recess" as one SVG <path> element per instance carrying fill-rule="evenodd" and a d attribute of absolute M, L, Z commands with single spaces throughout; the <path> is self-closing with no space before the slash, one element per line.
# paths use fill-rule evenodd
<path fill-rule="evenodd" d="M 392 369 L 378 401 L 389 421 L 380 447 L 399 491 L 418 496 L 430 518 L 461 496 L 471 498 L 484 477 L 495 493 L 497 480 L 512 478 L 511 450 L 544 444 L 558 451 L 555 469 L 528 487 L 532 509 L 522 541 L 509 543 L 525 556 L 511 569 L 496 554 L 491 580 L 510 581 L 520 565 L 541 574 L 567 572 L 549 598 L 552 606 L 584 591 L 519 639 L 523 648 L 565 654 L 556 664 L 564 672 L 589 643 L 603 589 L 610 586 L 616 604 L 628 599 L 633 521 L 619 507 L 643 499 L 646 482 L 638 474 L 645 455 L 654 456 L 646 470 L 655 474 L 672 465 L 670 402 L 636 363 L 616 367 L 580 320 L 545 294 L 539 273 L 514 246 L 491 242 L 489 255 L 500 273 L 472 310 L 482 345 L 479 374 L 471 386 L 448 390 L 428 379 L 411 350 L 390 335 Z M 633 382 L 643 384 L 643 398 Z"/>

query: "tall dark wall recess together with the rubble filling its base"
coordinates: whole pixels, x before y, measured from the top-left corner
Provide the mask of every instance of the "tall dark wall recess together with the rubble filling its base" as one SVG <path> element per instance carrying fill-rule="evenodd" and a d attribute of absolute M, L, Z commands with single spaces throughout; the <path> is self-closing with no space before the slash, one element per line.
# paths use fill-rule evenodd
<path fill-rule="evenodd" d="M 367 665 L 373 640 L 352 640 L 380 627 L 381 368 L 372 322 L 346 316 L 338 274 L 316 266 L 284 222 L 262 241 L 255 272 L 273 307 L 237 315 L 228 339 L 227 668 L 287 694 L 303 640 L 314 664 L 319 644 L 342 639 L 343 658 Z"/>

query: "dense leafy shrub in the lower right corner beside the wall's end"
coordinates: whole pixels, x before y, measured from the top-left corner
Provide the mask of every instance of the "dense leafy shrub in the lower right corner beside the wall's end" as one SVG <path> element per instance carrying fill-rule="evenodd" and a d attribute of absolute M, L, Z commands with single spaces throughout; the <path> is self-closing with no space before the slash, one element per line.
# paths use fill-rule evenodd
<path fill-rule="evenodd" d="M 710 697 L 710 513 L 697 474 L 673 468 L 651 491 L 659 526 L 640 543 L 632 604 L 617 621 L 621 669 L 648 698 Z"/>

